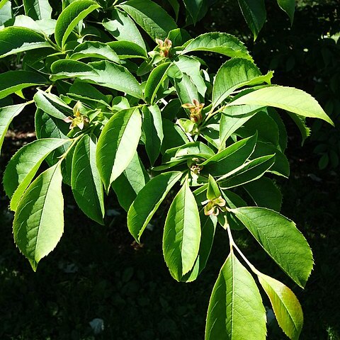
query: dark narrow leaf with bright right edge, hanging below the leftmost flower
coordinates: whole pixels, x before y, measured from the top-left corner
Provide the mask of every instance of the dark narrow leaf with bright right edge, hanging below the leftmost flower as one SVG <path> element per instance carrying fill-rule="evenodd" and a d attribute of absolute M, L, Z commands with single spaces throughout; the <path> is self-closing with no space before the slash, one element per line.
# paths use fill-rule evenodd
<path fill-rule="evenodd" d="M 72 192 L 79 208 L 103 225 L 103 184 L 96 166 L 96 137 L 84 135 L 77 142 L 72 160 Z"/>

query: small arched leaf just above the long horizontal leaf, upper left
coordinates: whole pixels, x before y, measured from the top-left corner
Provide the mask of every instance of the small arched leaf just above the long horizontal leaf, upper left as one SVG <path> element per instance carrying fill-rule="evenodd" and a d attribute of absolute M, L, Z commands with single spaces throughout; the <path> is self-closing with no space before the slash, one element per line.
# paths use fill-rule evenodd
<path fill-rule="evenodd" d="M 107 59 L 120 63 L 117 53 L 107 44 L 98 41 L 86 41 L 78 45 L 69 56 L 69 59 L 79 60 L 84 58 Z"/>

